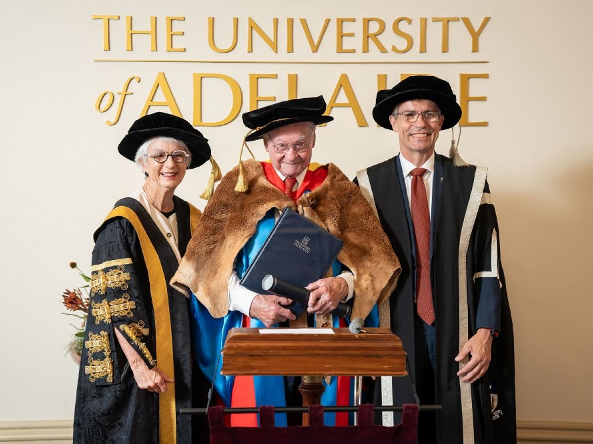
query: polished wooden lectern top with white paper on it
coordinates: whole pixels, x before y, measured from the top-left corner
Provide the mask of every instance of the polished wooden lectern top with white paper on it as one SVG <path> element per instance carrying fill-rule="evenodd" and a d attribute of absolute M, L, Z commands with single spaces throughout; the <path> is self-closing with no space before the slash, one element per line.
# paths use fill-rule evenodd
<path fill-rule="evenodd" d="M 290 329 L 275 329 L 290 330 Z M 222 375 L 406 376 L 401 340 L 385 328 L 301 329 L 260 333 L 232 329 L 222 349 Z M 333 330 L 333 334 L 320 330 Z M 310 332 L 309 332 L 310 331 Z"/>

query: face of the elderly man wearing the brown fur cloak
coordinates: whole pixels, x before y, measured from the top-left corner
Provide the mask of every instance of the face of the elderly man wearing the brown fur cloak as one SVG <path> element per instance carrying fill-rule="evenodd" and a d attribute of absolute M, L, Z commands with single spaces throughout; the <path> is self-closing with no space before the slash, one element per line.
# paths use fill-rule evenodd
<path fill-rule="evenodd" d="M 286 177 L 297 177 L 311 163 L 315 125 L 297 122 L 270 131 L 263 137 L 272 165 Z"/>

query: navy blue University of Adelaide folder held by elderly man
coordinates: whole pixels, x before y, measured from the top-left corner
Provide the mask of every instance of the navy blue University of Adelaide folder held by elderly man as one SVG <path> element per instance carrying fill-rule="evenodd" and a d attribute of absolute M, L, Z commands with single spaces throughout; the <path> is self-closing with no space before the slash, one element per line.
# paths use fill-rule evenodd
<path fill-rule="evenodd" d="M 271 294 L 262 289 L 262 279 L 273 275 L 307 287 L 326 275 L 343 244 L 333 234 L 286 208 L 239 283 L 259 294 Z M 287 308 L 298 317 L 305 305 L 293 302 Z"/>

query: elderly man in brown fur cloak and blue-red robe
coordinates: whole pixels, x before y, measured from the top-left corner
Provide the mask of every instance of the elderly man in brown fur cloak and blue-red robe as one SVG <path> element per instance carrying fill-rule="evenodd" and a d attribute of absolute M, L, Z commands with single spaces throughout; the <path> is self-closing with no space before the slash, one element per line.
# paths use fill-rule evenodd
<path fill-rule="evenodd" d="M 270 160 L 240 162 L 222 178 L 171 281 L 195 295 L 190 315 L 194 350 L 206 375 L 218 369 L 213 356 L 232 327 L 345 326 L 343 319 L 340 324 L 329 314 L 340 301 L 352 299 L 352 317 L 366 318 L 375 304 L 387 301 L 396 285 L 399 262 L 359 188 L 333 163 L 311 163 L 315 126 L 333 120 L 323 115 L 325 110 L 326 102 L 318 96 L 243 114 L 251 128 L 245 140 L 263 139 Z M 333 276 L 308 285 L 308 308 L 298 319 L 282 307 L 289 303 L 286 298 L 257 294 L 239 284 L 286 207 L 344 242 Z M 307 312 L 315 317 L 307 321 Z M 322 402 L 349 404 L 349 382 L 350 378 L 331 378 Z M 300 404 L 292 400 L 297 385 L 292 379 L 286 390 L 283 377 L 217 377 L 215 385 L 224 403 L 233 407 Z M 255 415 L 234 416 L 234 425 L 257 425 Z M 347 414 L 328 414 L 326 423 L 347 424 Z M 276 425 L 286 425 L 284 414 L 276 415 Z"/>

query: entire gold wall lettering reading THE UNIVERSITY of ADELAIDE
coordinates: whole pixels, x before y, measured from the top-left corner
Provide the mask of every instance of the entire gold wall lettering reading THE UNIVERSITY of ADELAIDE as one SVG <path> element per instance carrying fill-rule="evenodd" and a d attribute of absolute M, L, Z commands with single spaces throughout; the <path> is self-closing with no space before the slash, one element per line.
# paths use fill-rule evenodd
<path fill-rule="evenodd" d="M 106 14 L 95 14 L 92 15 L 93 20 L 100 21 L 101 31 L 103 33 L 103 51 L 110 51 L 113 42 L 110 40 L 110 31 L 113 27 L 116 27 L 118 31 L 117 35 L 125 34 L 125 47 L 129 52 L 133 51 L 132 38 L 136 34 L 146 34 L 150 36 L 150 49 L 152 52 L 157 51 L 157 37 L 163 38 L 165 41 L 164 48 L 167 52 L 185 52 L 184 46 L 174 46 L 173 38 L 181 38 L 186 36 L 186 31 L 180 30 L 183 24 L 178 22 L 184 22 L 186 17 L 166 15 L 164 17 L 165 26 L 157 27 L 157 21 L 163 20 L 163 18 L 157 18 L 156 16 L 144 16 L 140 20 L 149 21 L 148 29 L 135 29 L 132 26 L 133 17 L 126 15 L 125 20 L 120 21 L 120 15 L 106 15 Z M 328 33 L 328 29 L 333 27 L 334 38 L 335 38 L 335 52 L 336 54 L 342 53 L 411 53 L 416 51 L 417 53 L 426 53 L 428 49 L 433 51 L 439 51 L 440 53 L 449 52 L 449 37 L 454 36 L 457 42 L 461 36 L 464 36 L 468 42 L 467 51 L 471 49 L 471 53 L 477 53 L 480 49 L 480 37 L 482 37 L 487 24 L 490 22 L 490 17 L 481 17 L 478 20 L 473 21 L 469 17 L 392 17 L 389 19 L 382 17 L 333 17 L 323 18 L 323 25 L 316 25 L 314 30 L 311 30 L 310 23 L 307 18 L 298 18 L 298 24 L 295 25 L 295 17 L 270 17 L 269 19 L 257 21 L 253 17 L 232 17 L 225 19 L 224 22 L 220 23 L 219 19 L 215 17 L 205 17 L 207 23 L 207 34 L 208 34 L 208 46 L 214 53 L 230 53 L 237 51 L 239 34 L 247 33 L 247 38 L 242 40 L 244 43 L 243 50 L 246 53 L 253 53 L 254 51 L 254 40 L 259 40 L 264 45 L 269 47 L 274 54 L 280 52 L 278 43 L 282 41 L 282 35 L 286 37 L 286 54 L 294 53 L 295 46 L 305 47 L 310 50 L 311 54 L 317 53 L 326 41 L 326 45 L 330 44 L 331 41 L 327 42 L 327 39 L 333 38 L 331 31 Z M 125 24 L 124 24 L 125 21 Z M 222 28 L 219 31 L 218 37 L 232 36 L 231 38 L 223 38 L 220 46 L 215 43 L 215 23 Z M 388 26 L 390 25 L 390 26 Z M 125 27 L 125 29 L 124 29 Z M 164 28 L 165 36 L 159 36 L 158 33 L 162 34 Z M 125 31 L 125 33 L 124 33 Z M 231 31 L 231 32 L 229 32 Z M 439 32 L 440 31 L 440 32 Z M 330 36 L 330 37 L 328 37 Z M 414 37 L 413 37 L 414 36 Z M 416 37 L 417 36 L 417 37 Z M 139 40 L 142 37 L 136 36 Z M 231 40 L 232 39 L 232 40 Z M 146 40 L 148 41 L 148 40 Z M 190 40 L 191 41 L 191 40 Z M 305 44 L 306 43 L 306 44 Z M 120 43 L 121 44 L 121 43 Z M 144 46 L 143 49 L 146 47 Z M 329 48 L 328 48 L 329 49 Z M 162 49 L 161 49 L 162 50 Z M 333 48 L 332 48 L 333 50 Z M 105 60 L 107 61 L 107 60 Z M 111 60 L 116 62 L 117 60 Z M 141 61 L 141 60 L 138 60 Z M 155 60 L 156 61 L 156 60 Z M 183 61 L 183 60 L 171 60 L 171 61 Z M 195 60 L 187 60 L 195 61 Z M 220 62 L 232 62 L 233 60 L 220 60 Z M 365 60 L 343 60 L 345 63 L 365 63 Z M 378 59 L 377 62 L 387 61 L 387 59 Z M 393 62 L 393 57 L 388 59 L 389 62 Z M 249 60 L 237 60 L 238 63 L 249 62 Z M 264 60 L 264 62 L 266 62 Z M 286 62 L 286 60 L 280 60 L 280 63 Z M 404 60 L 401 60 L 404 62 Z M 438 62 L 438 61 L 435 61 Z M 213 61 L 216 63 L 216 61 Z M 262 63 L 257 60 L 253 60 L 253 63 Z M 301 62 L 299 62 L 301 63 Z M 303 60 L 302 63 L 337 63 L 334 60 L 326 60 L 317 62 L 315 60 Z M 374 63 L 374 62 L 368 62 Z M 429 61 L 428 63 L 432 63 Z M 457 60 L 454 62 L 445 63 L 487 63 L 487 60 Z M 336 74 L 337 75 L 337 74 Z M 377 81 L 380 84 L 392 85 L 395 83 L 388 82 L 387 76 L 382 73 L 377 73 Z M 245 86 L 245 93 L 248 95 L 248 110 L 254 110 L 261 105 L 260 102 L 274 102 L 277 99 L 276 95 L 260 95 L 260 79 L 270 79 L 271 81 L 278 80 L 278 73 L 249 73 L 248 74 L 248 85 Z M 487 121 L 472 121 L 469 114 L 468 102 L 470 101 L 484 101 L 486 96 L 471 95 L 469 91 L 469 79 L 470 78 L 488 78 L 487 73 L 476 73 L 472 75 L 461 75 L 460 79 L 460 98 L 463 98 L 461 107 L 464 111 L 463 117 L 461 118 L 461 126 L 487 126 Z M 193 126 L 206 126 L 206 127 L 218 127 L 224 126 L 237 118 L 241 112 L 243 106 L 243 94 L 240 84 L 231 76 L 225 73 L 192 73 L 193 79 L 193 118 L 191 119 Z M 232 102 L 229 103 L 228 114 L 217 121 L 205 121 L 203 117 L 203 103 L 202 103 L 202 91 L 204 82 L 212 82 L 212 79 L 219 79 L 231 88 Z M 139 76 L 130 76 L 127 78 L 123 85 L 122 91 L 117 92 L 120 96 L 117 111 L 112 120 L 106 120 L 106 124 L 113 126 L 119 122 L 122 116 L 123 105 L 126 101 L 126 95 L 132 95 L 133 92 L 129 91 L 130 84 L 132 81 L 140 82 Z M 286 74 L 286 98 L 294 99 L 298 97 L 298 74 L 289 73 Z M 455 88 L 454 88 L 455 90 Z M 113 108 L 114 104 L 114 89 L 111 91 L 102 91 L 95 100 L 95 110 L 97 112 L 107 112 Z M 337 102 L 337 94 L 344 91 L 346 95 L 346 102 Z M 156 100 L 155 97 L 159 94 L 164 96 L 164 100 Z M 361 93 L 362 94 L 362 93 Z M 369 91 L 364 91 L 364 94 L 373 94 Z M 327 95 L 327 92 L 326 92 Z M 283 97 L 282 97 L 283 98 Z M 148 114 L 152 107 L 164 107 L 164 111 L 170 112 L 171 114 L 183 117 L 181 110 L 178 107 L 177 100 L 173 94 L 173 89 L 170 83 L 167 81 L 164 72 L 158 72 L 150 91 L 146 95 L 144 106 L 142 107 L 140 116 Z M 368 126 L 368 121 L 359 106 L 359 100 L 355 95 L 355 92 L 350 85 L 350 81 L 347 78 L 346 73 L 341 73 L 337 79 L 336 86 L 333 89 L 332 99 L 330 101 L 327 114 L 331 112 L 332 108 L 335 107 L 346 107 L 350 108 L 355 119 L 356 124 L 359 127 Z M 223 113 L 224 115 L 224 113 Z M 190 119 L 187 119 L 190 120 Z"/>

